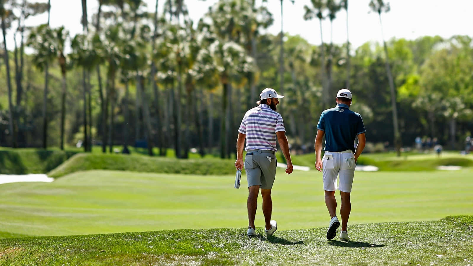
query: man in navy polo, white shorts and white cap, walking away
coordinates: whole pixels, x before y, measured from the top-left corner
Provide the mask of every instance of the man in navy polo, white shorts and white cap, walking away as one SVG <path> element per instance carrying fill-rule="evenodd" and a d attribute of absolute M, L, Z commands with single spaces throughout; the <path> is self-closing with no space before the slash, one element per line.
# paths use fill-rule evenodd
<path fill-rule="evenodd" d="M 350 110 L 351 92 L 341 89 L 336 97 L 337 106 L 327 109 L 320 115 L 317 124 L 317 136 L 315 137 L 315 168 L 323 169 L 325 205 L 330 214 L 330 224 L 327 230 L 327 239 L 333 239 L 337 234 L 340 222 L 335 214 L 337 201 L 335 190 L 337 189 L 337 176 L 340 177 L 340 196 L 342 206 L 342 232 L 340 239 L 350 239 L 347 234 L 347 223 L 350 217 L 351 203 L 350 193 L 355 174 L 356 162 L 365 148 L 365 126 L 361 115 Z M 324 158 L 321 159 L 322 138 L 325 135 Z M 354 141 L 358 136 L 358 145 L 355 149 Z"/>

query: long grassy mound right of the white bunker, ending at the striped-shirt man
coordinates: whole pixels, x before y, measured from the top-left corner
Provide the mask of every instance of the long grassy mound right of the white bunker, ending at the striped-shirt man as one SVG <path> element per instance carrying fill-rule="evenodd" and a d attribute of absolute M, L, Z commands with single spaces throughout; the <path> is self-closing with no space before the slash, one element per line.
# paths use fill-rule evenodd
<path fill-rule="evenodd" d="M 148 157 L 123 154 L 79 153 L 48 173 L 61 177 L 77 171 L 103 169 L 168 174 L 225 175 L 235 172 L 234 160 Z"/>

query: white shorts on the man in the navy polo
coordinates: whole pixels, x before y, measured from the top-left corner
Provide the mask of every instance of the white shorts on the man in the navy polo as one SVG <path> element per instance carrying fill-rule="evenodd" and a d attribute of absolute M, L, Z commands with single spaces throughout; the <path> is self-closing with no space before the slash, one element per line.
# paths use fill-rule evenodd
<path fill-rule="evenodd" d="M 324 190 L 337 190 L 337 176 L 340 176 L 338 189 L 343 192 L 351 192 L 356 167 L 353 152 L 351 150 L 325 151 L 322 163 Z"/>

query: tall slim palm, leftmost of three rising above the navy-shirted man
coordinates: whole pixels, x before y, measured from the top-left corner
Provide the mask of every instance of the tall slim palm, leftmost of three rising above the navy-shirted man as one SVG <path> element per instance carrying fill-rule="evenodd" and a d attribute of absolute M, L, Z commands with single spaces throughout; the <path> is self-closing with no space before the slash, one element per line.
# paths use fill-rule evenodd
<path fill-rule="evenodd" d="M 304 20 L 312 20 L 313 18 L 319 19 L 320 26 L 320 79 L 322 80 L 322 101 L 324 103 L 324 108 L 329 105 L 329 91 L 327 79 L 325 76 L 325 48 L 324 48 L 324 38 L 322 35 L 322 20 L 325 19 L 324 11 L 327 7 L 326 0 L 311 0 L 312 8 L 309 8 L 307 5 L 304 6 L 305 14 Z"/>

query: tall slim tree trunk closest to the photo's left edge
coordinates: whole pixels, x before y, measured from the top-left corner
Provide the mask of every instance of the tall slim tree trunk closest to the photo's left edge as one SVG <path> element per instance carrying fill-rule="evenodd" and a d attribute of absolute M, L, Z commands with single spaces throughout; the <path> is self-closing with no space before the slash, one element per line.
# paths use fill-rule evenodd
<path fill-rule="evenodd" d="M 8 56 L 8 49 L 7 49 L 7 40 L 6 40 L 6 22 L 5 20 L 8 18 L 10 11 L 7 11 L 4 6 L 4 1 L 0 1 L 0 17 L 1 17 L 1 30 L 3 34 L 3 45 L 4 45 L 4 52 L 3 52 L 3 60 L 5 61 L 5 66 L 7 68 L 7 87 L 8 87 L 8 106 L 9 106 L 9 131 L 10 135 L 12 136 L 12 146 L 13 148 L 17 148 L 17 136 L 14 131 L 14 122 L 13 122 L 13 103 L 11 100 L 11 81 L 10 81 L 10 63 L 9 63 L 9 56 Z"/>

